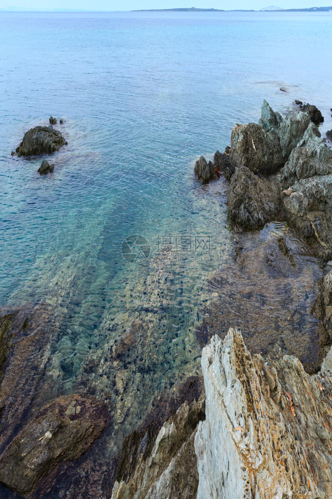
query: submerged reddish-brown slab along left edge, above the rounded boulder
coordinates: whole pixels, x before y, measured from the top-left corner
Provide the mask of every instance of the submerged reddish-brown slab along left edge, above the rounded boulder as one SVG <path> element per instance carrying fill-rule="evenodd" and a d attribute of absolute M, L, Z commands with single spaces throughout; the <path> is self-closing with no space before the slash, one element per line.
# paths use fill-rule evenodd
<path fill-rule="evenodd" d="M 45 304 L 1 310 L 0 453 L 26 417 L 44 374 L 52 312 Z"/>

